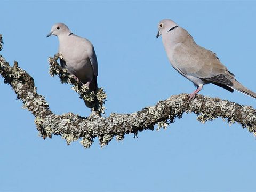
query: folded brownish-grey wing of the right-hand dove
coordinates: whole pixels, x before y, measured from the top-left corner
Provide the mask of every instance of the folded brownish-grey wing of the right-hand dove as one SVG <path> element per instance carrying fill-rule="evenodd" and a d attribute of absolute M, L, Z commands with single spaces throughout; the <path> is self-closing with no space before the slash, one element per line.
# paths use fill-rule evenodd
<path fill-rule="evenodd" d="M 183 74 L 200 78 L 206 83 L 233 86 L 231 80 L 234 79 L 234 74 L 227 70 L 214 52 L 197 45 L 194 41 L 179 43 L 173 55 L 174 63 L 179 63 L 176 67 Z"/>

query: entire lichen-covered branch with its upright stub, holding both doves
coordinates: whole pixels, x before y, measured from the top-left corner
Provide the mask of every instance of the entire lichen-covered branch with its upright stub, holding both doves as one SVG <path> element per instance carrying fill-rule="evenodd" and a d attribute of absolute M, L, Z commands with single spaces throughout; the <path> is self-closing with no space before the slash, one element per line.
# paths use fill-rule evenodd
<path fill-rule="evenodd" d="M 0 41 L 2 42 L 1 38 Z M 49 59 L 50 74 L 58 75 L 62 83 L 72 84 L 81 97 L 90 95 L 83 84 L 76 82 L 75 78 L 58 65 L 57 59 L 58 55 Z M 249 132 L 256 133 L 255 109 L 202 95 L 197 95 L 189 103 L 187 94 L 173 95 L 169 99 L 159 101 L 155 106 L 146 107 L 135 113 L 112 113 L 109 117 L 102 117 L 99 111 L 103 109 L 106 94 L 100 89 L 102 91 L 100 97 L 99 92 L 89 96 L 96 97 L 99 103 L 101 102 L 101 107 L 93 110 L 89 117 L 72 113 L 57 115 L 52 113 L 44 97 L 36 92 L 33 78 L 19 68 L 17 62 L 11 67 L 0 55 L 0 74 L 4 78 L 4 83 L 11 85 L 17 97 L 22 100 L 24 107 L 35 116 L 36 127 L 43 138 L 60 135 L 68 144 L 80 139 L 85 148 L 89 148 L 96 137 L 99 138 L 100 145 L 105 146 L 114 137 L 123 140 L 125 134 L 133 133 L 136 137 L 140 131 L 153 130 L 154 125 L 158 125 L 158 129 L 166 127 L 176 118 L 181 118 L 184 113 L 197 114 L 197 119 L 202 123 L 221 117 L 227 119 L 229 123 L 237 122 Z"/>

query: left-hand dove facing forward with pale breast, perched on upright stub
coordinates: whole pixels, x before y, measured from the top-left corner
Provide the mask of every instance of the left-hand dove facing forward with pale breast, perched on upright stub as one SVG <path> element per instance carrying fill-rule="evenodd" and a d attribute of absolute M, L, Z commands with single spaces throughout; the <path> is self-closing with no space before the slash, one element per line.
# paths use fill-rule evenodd
<path fill-rule="evenodd" d="M 98 63 L 92 43 L 71 33 L 68 26 L 63 23 L 53 25 L 46 37 L 51 35 L 59 38 L 59 53 L 63 57 L 60 58 L 61 67 L 87 84 L 90 91 L 95 91 L 98 86 Z"/>

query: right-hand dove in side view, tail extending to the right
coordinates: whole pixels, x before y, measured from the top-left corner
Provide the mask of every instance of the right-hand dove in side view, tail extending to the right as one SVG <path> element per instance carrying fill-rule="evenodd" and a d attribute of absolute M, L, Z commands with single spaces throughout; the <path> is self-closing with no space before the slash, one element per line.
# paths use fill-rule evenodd
<path fill-rule="evenodd" d="M 164 19 L 158 23 L 156 38 L 160 35 L 171 65 L 197 87 L 190 94 L 189 101 L 195 98 L 204 84 L 209 83 L 256 98 L 256 93 L 239 83 L 215 53 L 197 45 L 193 37 L 172 20 Z"/>

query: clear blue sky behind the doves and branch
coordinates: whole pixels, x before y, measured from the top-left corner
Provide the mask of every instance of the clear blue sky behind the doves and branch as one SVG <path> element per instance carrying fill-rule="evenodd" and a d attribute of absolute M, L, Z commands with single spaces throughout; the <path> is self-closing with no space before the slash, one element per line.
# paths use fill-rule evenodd
<path fill-rule="evenodd" d="M 90 114 L 70 85 L 48 73 L 63 22 L 97 53 L 106 116 L 131 113 L 194 86 L 167 60 L 157 23 L 169 18 L 218 54 L 238 81 L 256 91 L 256 2 L 1 1 L 2 54 L 34 77 L 56 114 Z M 222 119 L 201 124 L 185 114 L 166 130 L 126 135 L 101 149 L 38 137 L 34 117 L 0 78 L 0 191 L 256 191 L 256 138 Z M 256 100 L 215 85 L 200 92 L 256 108 Z"/>

